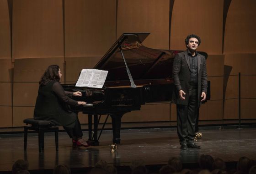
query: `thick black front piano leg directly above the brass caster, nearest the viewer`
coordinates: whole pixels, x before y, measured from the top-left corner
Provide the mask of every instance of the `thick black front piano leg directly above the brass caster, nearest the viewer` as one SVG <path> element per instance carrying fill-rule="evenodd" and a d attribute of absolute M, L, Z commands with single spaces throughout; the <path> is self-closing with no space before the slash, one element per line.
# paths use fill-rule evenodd
<path fill-rule="evenodd" d="M 113 129 L 113 143 L 120 144 L 120 130 L 121 130 L 121 119 L 124 113 L 111 114 L 112 118 L 112 129 Z"/>

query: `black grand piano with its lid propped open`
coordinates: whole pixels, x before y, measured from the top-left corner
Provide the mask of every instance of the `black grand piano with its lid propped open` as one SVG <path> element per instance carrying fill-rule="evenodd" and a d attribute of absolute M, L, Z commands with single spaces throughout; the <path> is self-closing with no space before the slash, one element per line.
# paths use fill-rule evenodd
<path fill-rule="evenodd" d="M 157 50 L 143 46 L 142 42 L 149 34 L 124 33 L 117 39 L 93 68 L 108 71 L 102 88 L 63 85 L 65 91 L 82 92 L 82 97 L 73 96 L 73 99 L 91 103 L 72 108 L 88 114 L 88 141 L 91 144 L 99 145 L 98 123 L 101 115 L 112 118 L 112 142 L 120 143 L 123 114 L 140 110 L 141 105 L 147 102 L 171 100 L 174 90 L 171 79 L 172 63 L 175 55 L 181 51 Z M 105 123 L 106 121 L 107 119 Z"/>

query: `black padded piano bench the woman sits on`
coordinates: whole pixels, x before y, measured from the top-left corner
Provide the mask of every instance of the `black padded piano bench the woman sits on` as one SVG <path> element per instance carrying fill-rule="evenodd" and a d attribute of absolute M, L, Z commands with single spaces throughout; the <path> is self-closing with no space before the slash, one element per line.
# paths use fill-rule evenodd
<path fill-rule="evenodd" d="M 55 148 L 56 151 L 59 150 L 59 127 L 48 120 L 37 120 L 34 118 L 27 118 L 23 120 L 23 123 L 27 125 L 24 126 L 24 150 L 27 150 L 27 130 L 34 130 L 38 133 L 38 148 L 39 152 L 44 149 L 44 133 L 54 132 L 55 133 Z"/>

